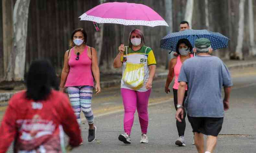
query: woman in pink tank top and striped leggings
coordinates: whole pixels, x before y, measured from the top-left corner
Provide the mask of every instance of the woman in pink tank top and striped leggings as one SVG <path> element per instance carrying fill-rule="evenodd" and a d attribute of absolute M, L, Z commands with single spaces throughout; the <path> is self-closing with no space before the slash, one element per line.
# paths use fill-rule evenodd
<path fill-rule="evenodd" d="M 70 103 L 80 127 L 80 112 L 83 111 L 89 124 L 88 141 L 91 142 L 95 140 L 96 132 L 91 109 L 94 79 L 96 94 L 101 91 L 97 52 L 94 48 L 86 45 L 87 34 L 82 28 L 73 31 L 70 42 L 72 48 L 67 50 L 64 56 L 60 91 L 64 91 L 65 87 L 67 88 Z"/>

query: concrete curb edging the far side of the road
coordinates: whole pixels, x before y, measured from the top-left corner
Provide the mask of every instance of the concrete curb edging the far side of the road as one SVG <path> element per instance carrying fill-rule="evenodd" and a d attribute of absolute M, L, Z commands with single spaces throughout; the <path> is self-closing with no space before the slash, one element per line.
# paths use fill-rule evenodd
<path fill-rule="evenodd" d="M 247 63 L 238 63 L 238 64 L 232 64 L 227 66 L 229 70 L 231 69 L 237 69 L 237 68 L 244 68 L 244 67 L 254 67 L 256 66 L 256 61 L 253 62 L 247 62 Z M 155 75 L 154 79 L 161 79 L 166 78 L 168 75 L 168 72 L 164 73 L 158 73 Z M 111 80 L 111 81 L 103 81 L 100 83 L 100 86 L 102 88 L 104 87 L 113 87 L 121 84 L 121 79 Z M 18 92 L 18 91 L 17 91 Z M 0 93 L 0 102 L 2 101 L 8 101 L 16 92 L 5 92 Z"/>

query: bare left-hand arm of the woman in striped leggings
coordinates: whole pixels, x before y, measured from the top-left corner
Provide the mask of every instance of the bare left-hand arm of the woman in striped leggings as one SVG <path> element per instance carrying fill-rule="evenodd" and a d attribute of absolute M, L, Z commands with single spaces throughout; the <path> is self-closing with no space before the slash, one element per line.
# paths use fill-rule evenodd
<path fill-rule="evenodd" d="M 68 65 L 68 50 L 66 51 L 64 55 L 64 67 L 62 69 L 61 73 L 61 83 L 60 83 L 60 91 L 64 91 L 64 86 L 66 83 L 67 75 L 69 73 L 69 65 Z"/>

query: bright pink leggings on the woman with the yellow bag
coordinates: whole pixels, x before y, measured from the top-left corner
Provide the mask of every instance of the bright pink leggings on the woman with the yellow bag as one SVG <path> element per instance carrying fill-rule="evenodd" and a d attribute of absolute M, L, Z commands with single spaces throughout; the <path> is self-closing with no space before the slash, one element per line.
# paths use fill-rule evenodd
<path fill-rule="evenodd" d="M 141 132 L 143 134 L 147 133 L 148 127 L 148 113 L 147 104 L 148 98 L 150 96 L 151 89 L 145 92 L 138 92 L 130 89 L 121 88 L 121 94 L 124 106 L 124 118 L 123 127 L 124 132 L 128 135 L 131 134 L 131 129 L 134 122 L 134 113 L 137 108 L 139 115 Z"/>

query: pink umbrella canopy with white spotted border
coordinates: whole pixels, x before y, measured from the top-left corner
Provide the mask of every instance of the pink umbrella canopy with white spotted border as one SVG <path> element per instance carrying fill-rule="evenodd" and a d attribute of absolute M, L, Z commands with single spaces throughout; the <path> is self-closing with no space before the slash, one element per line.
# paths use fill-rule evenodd
<path fill-rule="evenodd" d="M 146 25 L 151 27 L 168 26 L 165 20 L 150 7 L 126 2 L 103 3 L 88 10 L 79 18 L 97 23 Z"/>

